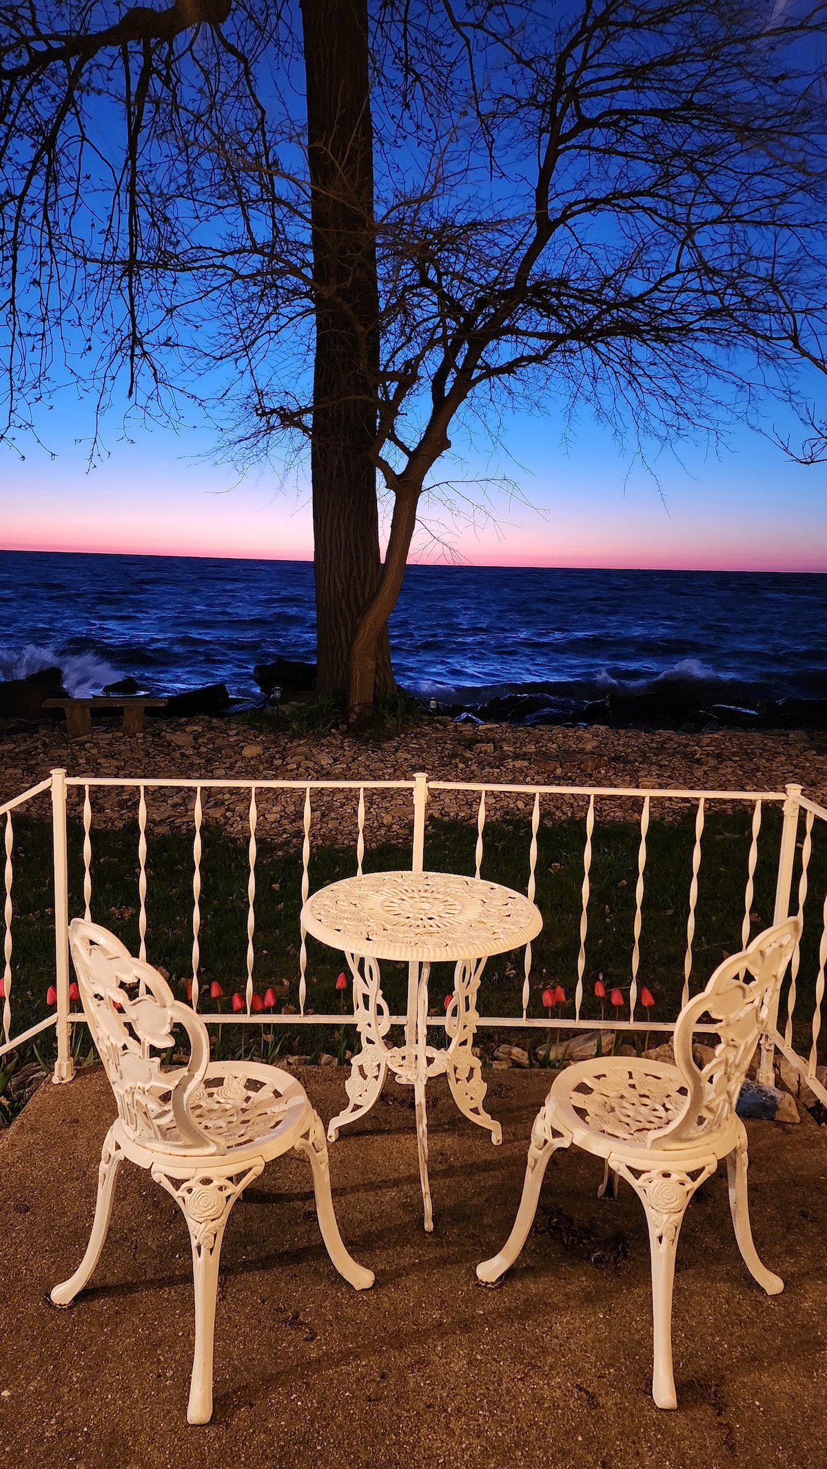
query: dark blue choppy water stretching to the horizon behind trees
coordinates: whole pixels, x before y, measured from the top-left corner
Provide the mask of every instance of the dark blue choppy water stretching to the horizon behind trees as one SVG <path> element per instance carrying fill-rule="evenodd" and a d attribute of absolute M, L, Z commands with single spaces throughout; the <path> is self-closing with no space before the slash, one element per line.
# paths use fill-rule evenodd
<path fill-rule="evenodd" d="M 71 692 L 134 674 L 160 693 L 314 657 L 303 561 L 0 552 L 0 677 L 59 663 Z M 827 576 L 408 569 L 391 621 L 419 692 L 542 685 L 601 698 L 677 679 L 721 699 L 827 696 Z"/>

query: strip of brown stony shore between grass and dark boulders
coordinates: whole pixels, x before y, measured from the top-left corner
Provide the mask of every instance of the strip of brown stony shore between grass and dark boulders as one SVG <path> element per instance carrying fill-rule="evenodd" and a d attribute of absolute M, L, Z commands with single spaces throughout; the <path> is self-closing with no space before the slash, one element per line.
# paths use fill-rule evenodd
<path fill-rule="evenodd" d="M 404 733 L 367 743 L 342 733 L 297 737 L 266 720 L 225 717 L 147 721 L 142 734 L 125 734 L 113 724 L 73 739 L 59 724 L 0 734 L 0 799 L 7 801 L 43 780 L 53 767 L 69 776 L 120 779 L 226 780 L 410 780 L 423 770 L 432 780 L 494 784 L 561 786 L 542 799 L 546 821 L 582 815 L 583 795 L 566 787 L 607 786 L 689 790 L 783 790 L 787 782 L 827 805 L 827 732 L 717 730 L 677 733 L 630 729 L 454 724 L 427 718 Z M 358 793 L 313 793 L 314 842 L 353 845 Z M 429 817 L 476 817 L 477 795 L 433 792 Z M 81 815 L 82 790 L 71 792 L 71 814 Z M 135 790 L 97 789 L 91 795 L 95 826 L 135 820 Z M 304 790 L 260 792 L 257 833 L 294 846 L 303 837 Z M 192 826 L 194 792 L 150 790 L 148 831 L 167 833 Z M 491 795 L 488 818 L 527 814 L 532 798 Z M 41 796 L 32 814 L 48 814 Z M 635 798 L 602 798 L 599 820 L 636 818 Z M 686 802 L 658 799 L 652 817 L 677 820 L 692 811 Z M 239 790 L 204 792 L 204 821 L 217 821 L 232 836 L 248 836 L 248 796 Z M 410 842 L 408 790 L 366 792 L 364 837 Z"/>

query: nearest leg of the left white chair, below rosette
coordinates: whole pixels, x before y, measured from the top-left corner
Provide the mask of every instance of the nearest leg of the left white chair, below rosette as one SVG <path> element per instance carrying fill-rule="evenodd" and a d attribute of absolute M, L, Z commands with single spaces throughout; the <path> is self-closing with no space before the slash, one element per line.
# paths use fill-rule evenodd
<path fill-rule="evenodd" d="M 213 1340 L 216 1296 L 223 1231 L 239 1193 L 264 1166 L 251 1163 L 242 1174 L 220 1177 L 201 1169 L 188 1178 L 175 1178 L 157 1165 L 153 1178 L 175 1199 L 189 1230 L 192 1246 L 192 1285 L 195 1293 L 195 1350 L 187 1421 L 209 1423 L 213 1415 Z"/>

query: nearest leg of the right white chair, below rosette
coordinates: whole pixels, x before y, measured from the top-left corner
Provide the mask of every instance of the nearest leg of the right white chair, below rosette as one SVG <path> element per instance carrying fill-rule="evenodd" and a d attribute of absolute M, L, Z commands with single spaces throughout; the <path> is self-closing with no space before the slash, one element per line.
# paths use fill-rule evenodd
<path fill-rule="evenodd" d="M 632 1184 L 646 1210 L 652 1256 L 652 1397 L 658 1407 L 677 1407 L 671 1365 L 671 1294 L 677 1237 L 686 1206 L 712 1168 L 698 1169 L 696 1177 L 677 1169 L 652 1169 L 636 1174 L 627 1166 L 620 1172 Z"/>

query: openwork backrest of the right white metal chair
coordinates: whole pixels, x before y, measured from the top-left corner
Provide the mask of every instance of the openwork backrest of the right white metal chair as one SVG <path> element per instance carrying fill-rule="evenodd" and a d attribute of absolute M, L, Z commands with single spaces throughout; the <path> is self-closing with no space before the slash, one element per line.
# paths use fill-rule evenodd
<path fill-rule="evenodd" d="M 758 1037 L 773 1022 L 776 997 L 801 930 L 801 918 L 784 918 L 765 928 L 746 949 L 718 964 L 707 989 L 683 1006 L 674 1030 L 674 1059 L 686 1083 L 686 1106 L 668 1127 L 649 1133 L 648 1147 L 701 1140 L 704 1133 L 729 1121 Z M 720 1040 L 712 1059 L 699 1068 L 692 1044 L 704 1015 L 711 1017 Z"/>

